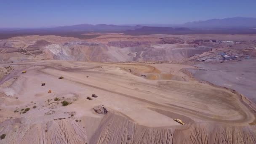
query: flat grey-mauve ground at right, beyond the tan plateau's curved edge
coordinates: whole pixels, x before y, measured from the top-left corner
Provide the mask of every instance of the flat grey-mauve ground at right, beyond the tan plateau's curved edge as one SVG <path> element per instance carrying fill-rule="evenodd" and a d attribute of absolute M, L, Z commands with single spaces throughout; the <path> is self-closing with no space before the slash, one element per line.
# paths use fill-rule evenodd
<path fill-rule="evenodd" d="M 189 69 L 195 78 L 232 88 L 256 103 L 256 59 L 221 64 L 197 64 Z"/>

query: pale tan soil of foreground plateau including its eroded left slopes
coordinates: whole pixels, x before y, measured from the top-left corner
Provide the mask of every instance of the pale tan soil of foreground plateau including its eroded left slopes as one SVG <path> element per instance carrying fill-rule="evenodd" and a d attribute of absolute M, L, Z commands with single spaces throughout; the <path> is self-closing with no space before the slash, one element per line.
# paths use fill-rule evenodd
<path fill-rule="evenodd" d="M 12 65 L 15 64 L 18 63 Z M 52 60 L 19 64 L 35 67 L 27 68 L 27 73 L 20 74 L 10 86 L 0 88 L 0 121 L 3 122 L 0 131 L 7 134 L 0 143 L 119 143 L 118 137 L 111 139 L 117 134 L 115 128 L 119 123 L 128 123 L 127 127 L 123 125 L 125 128 L 120 133 L 123 130 L 130 131 L 131 136 L 126 137 L 139 143 L 147 141 L 137 137 L 141 128 L 157 128 L 159 132 L 163 128 L 171 128 L 170 133 L 166 133 L 169 135 L 175 129 L 178 131 L 189 125 L 217 124 L 247 128 L 255 123 L 254 108 L 250 101 L 228 89 L 199 83 L 185 77 L 183 73 L 178 74 L 186 66 Z M 125 69 L 131 69 L 132 72 Z M 185 77 L 187 81 L 148 80 L 133 75 L 133 71 L 144 73 L 146 77 L 149 74 L 170 73 L 176 77 Z M 64 79 L 60 80 L 59 76 L 64 76 Z M 46 85 L 41 86 L 41 83 Z M 48 90 L 52 93 L 47 93 Z M 87 100 L 86 97 L 93 93 L 99 97 Z M 54 101 L 56 97 L 60 101 Z M 64 107 L 60 103 L 63 100 L 72 104 Z M 107 116 L 93 111 L 93 107 L 100 104 L 109 110 Z M 33 106 L 36 108 L 33 109 Z M 21 109 L 27 107 L 30 110 L 20 114 Z M 15 110 L 19 112 L 13 112 Z M 181 126 L 173 118 L 179 118 L 186 124 Z M 115 123 L 115 126 L 107 130 L 103 126 L 107 123 Z M 212 131 L 208 126 L 203 126 L 203 129 Z M 240 131 L 239 128 L 237 131 Z M 61 136 L 61 133 L 68 137 Z M 179 136 L 174 139 L 179 139 Z"/>

